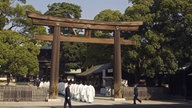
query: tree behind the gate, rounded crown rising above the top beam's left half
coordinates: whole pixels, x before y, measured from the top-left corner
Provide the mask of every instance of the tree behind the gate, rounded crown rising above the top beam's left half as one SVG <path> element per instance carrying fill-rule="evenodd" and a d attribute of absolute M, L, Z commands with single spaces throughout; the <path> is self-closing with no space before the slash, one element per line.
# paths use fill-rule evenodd
<path fill-rule="evenodd" d="M 63 2 L 48 5 L 48 11 L 45 14 L 64 18 L 80 18 L 81 11 L 80 6 Z M 53 33 L 52 27 L 50 27 L 49 33 Z M 70 36 L 76 33 L 78 33 L 77 29 L 61 27 L 61 34 L 63 35 Z M 85 51 L 86 44 L 61 42 L 60 71 L 82 68 Z"/>

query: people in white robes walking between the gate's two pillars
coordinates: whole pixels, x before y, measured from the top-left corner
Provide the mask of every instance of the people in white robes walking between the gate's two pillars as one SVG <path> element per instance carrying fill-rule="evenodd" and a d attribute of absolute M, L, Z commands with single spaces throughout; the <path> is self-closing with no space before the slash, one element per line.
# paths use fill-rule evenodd
<path fill-rule="evenodd" d="M 67 83 L 60 82 L 58 86 L 58 92 L 65 95 Z M 92 85 L 71 84 L 70 92 L 72 99 L 82 102 L 92 103 L 95 98 L 95 88 Z"/>

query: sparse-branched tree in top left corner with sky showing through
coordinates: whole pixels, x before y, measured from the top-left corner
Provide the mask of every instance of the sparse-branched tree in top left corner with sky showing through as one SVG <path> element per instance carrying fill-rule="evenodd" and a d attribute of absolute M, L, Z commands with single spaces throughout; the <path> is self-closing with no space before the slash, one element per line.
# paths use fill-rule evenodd
<path fill-rule="evenodd" d="M 18 0 L 25 3 L 25 0 Z M 15 4 L 15 6 L 12 6 Z M 45 27 L 34 26 L 26 11 L 36 11 L 32 5 L 20 5 L 13 0 L 2 0 L 0 2 L 0 30 L 15 30 L 26 36 L 33 37 L 36 33 L 46 34 Z"/>

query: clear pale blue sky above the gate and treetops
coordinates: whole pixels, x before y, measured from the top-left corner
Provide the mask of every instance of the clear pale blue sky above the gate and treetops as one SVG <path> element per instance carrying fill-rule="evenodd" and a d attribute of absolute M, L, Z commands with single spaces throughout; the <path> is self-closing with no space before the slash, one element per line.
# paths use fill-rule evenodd
<path fill-rule="evenodd" d="M 45 13 L 48 8 L 47 5 L 53 3 L 72 3 L 79 5 L 82 9 L 81 19 L 94 19 L 99 12 L 105 9 L 119 10 L 121 13 L 131 5 L 129 0 L 26 0 L 27 4 L 31 4 L 36 10 Z"/>

